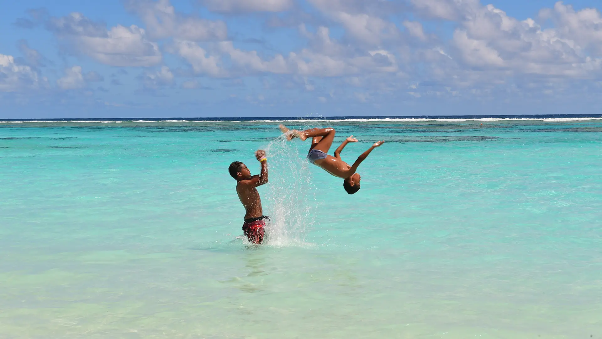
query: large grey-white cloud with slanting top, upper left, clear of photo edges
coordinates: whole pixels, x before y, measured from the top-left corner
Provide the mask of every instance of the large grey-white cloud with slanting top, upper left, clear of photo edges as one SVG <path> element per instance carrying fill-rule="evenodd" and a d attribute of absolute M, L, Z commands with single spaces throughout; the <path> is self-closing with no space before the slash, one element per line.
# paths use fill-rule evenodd
<path fill-rule="evenodd" d="M 111 66 L 152 66 L 161 62 L 157 43 L 149 42 L 142 28 L 117 25 L 107 31 L 104 24 L 90 21 L 81 13 L 51 17 L 48 28 L 61 42 L 92 59 Z"/>

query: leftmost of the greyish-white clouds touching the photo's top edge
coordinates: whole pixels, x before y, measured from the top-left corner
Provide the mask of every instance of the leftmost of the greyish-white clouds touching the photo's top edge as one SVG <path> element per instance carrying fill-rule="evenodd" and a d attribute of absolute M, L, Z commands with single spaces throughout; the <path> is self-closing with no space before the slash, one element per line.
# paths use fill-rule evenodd
<path fill-rule="evenodd" d="M 153 39 L 206 41 L 228 37 L 225 22 L 176 13 L 169 0 L 129 0 L 126 5 L 140 16 Z"/>

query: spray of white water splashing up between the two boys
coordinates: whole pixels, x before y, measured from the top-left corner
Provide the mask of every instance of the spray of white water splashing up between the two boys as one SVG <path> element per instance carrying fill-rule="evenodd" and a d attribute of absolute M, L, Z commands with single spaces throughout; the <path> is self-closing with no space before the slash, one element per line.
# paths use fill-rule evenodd
<path fill-rule="evenodd" d="M 272 216 L 266 244 L 309 245 L 305 236 L 314 224 L 312 208 L 317 202 L 305 153 L 300 154 L 284 137 L 270 142 L 265 151 L 270 158 L 270 182 L 264 206 Z"/>

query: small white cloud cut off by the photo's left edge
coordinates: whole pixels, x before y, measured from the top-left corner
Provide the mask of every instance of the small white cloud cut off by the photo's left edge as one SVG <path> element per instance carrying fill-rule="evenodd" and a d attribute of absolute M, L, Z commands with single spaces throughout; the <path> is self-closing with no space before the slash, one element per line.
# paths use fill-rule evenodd
<path fill-rule="evenodd" d="M 12 55 L 0 54 L 0 92 L 22 92 L 39 89 L 47 84 L 29 66 L 17 65 Z"/>

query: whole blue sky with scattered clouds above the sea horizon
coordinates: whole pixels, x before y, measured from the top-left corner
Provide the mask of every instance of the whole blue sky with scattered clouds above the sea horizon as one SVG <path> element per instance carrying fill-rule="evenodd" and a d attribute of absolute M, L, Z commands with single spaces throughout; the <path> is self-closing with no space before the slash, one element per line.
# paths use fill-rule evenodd
<path fill-rule="evenodd" d="M 1 7 L 0 118 L 602 113 L 600 1 Z"/>

